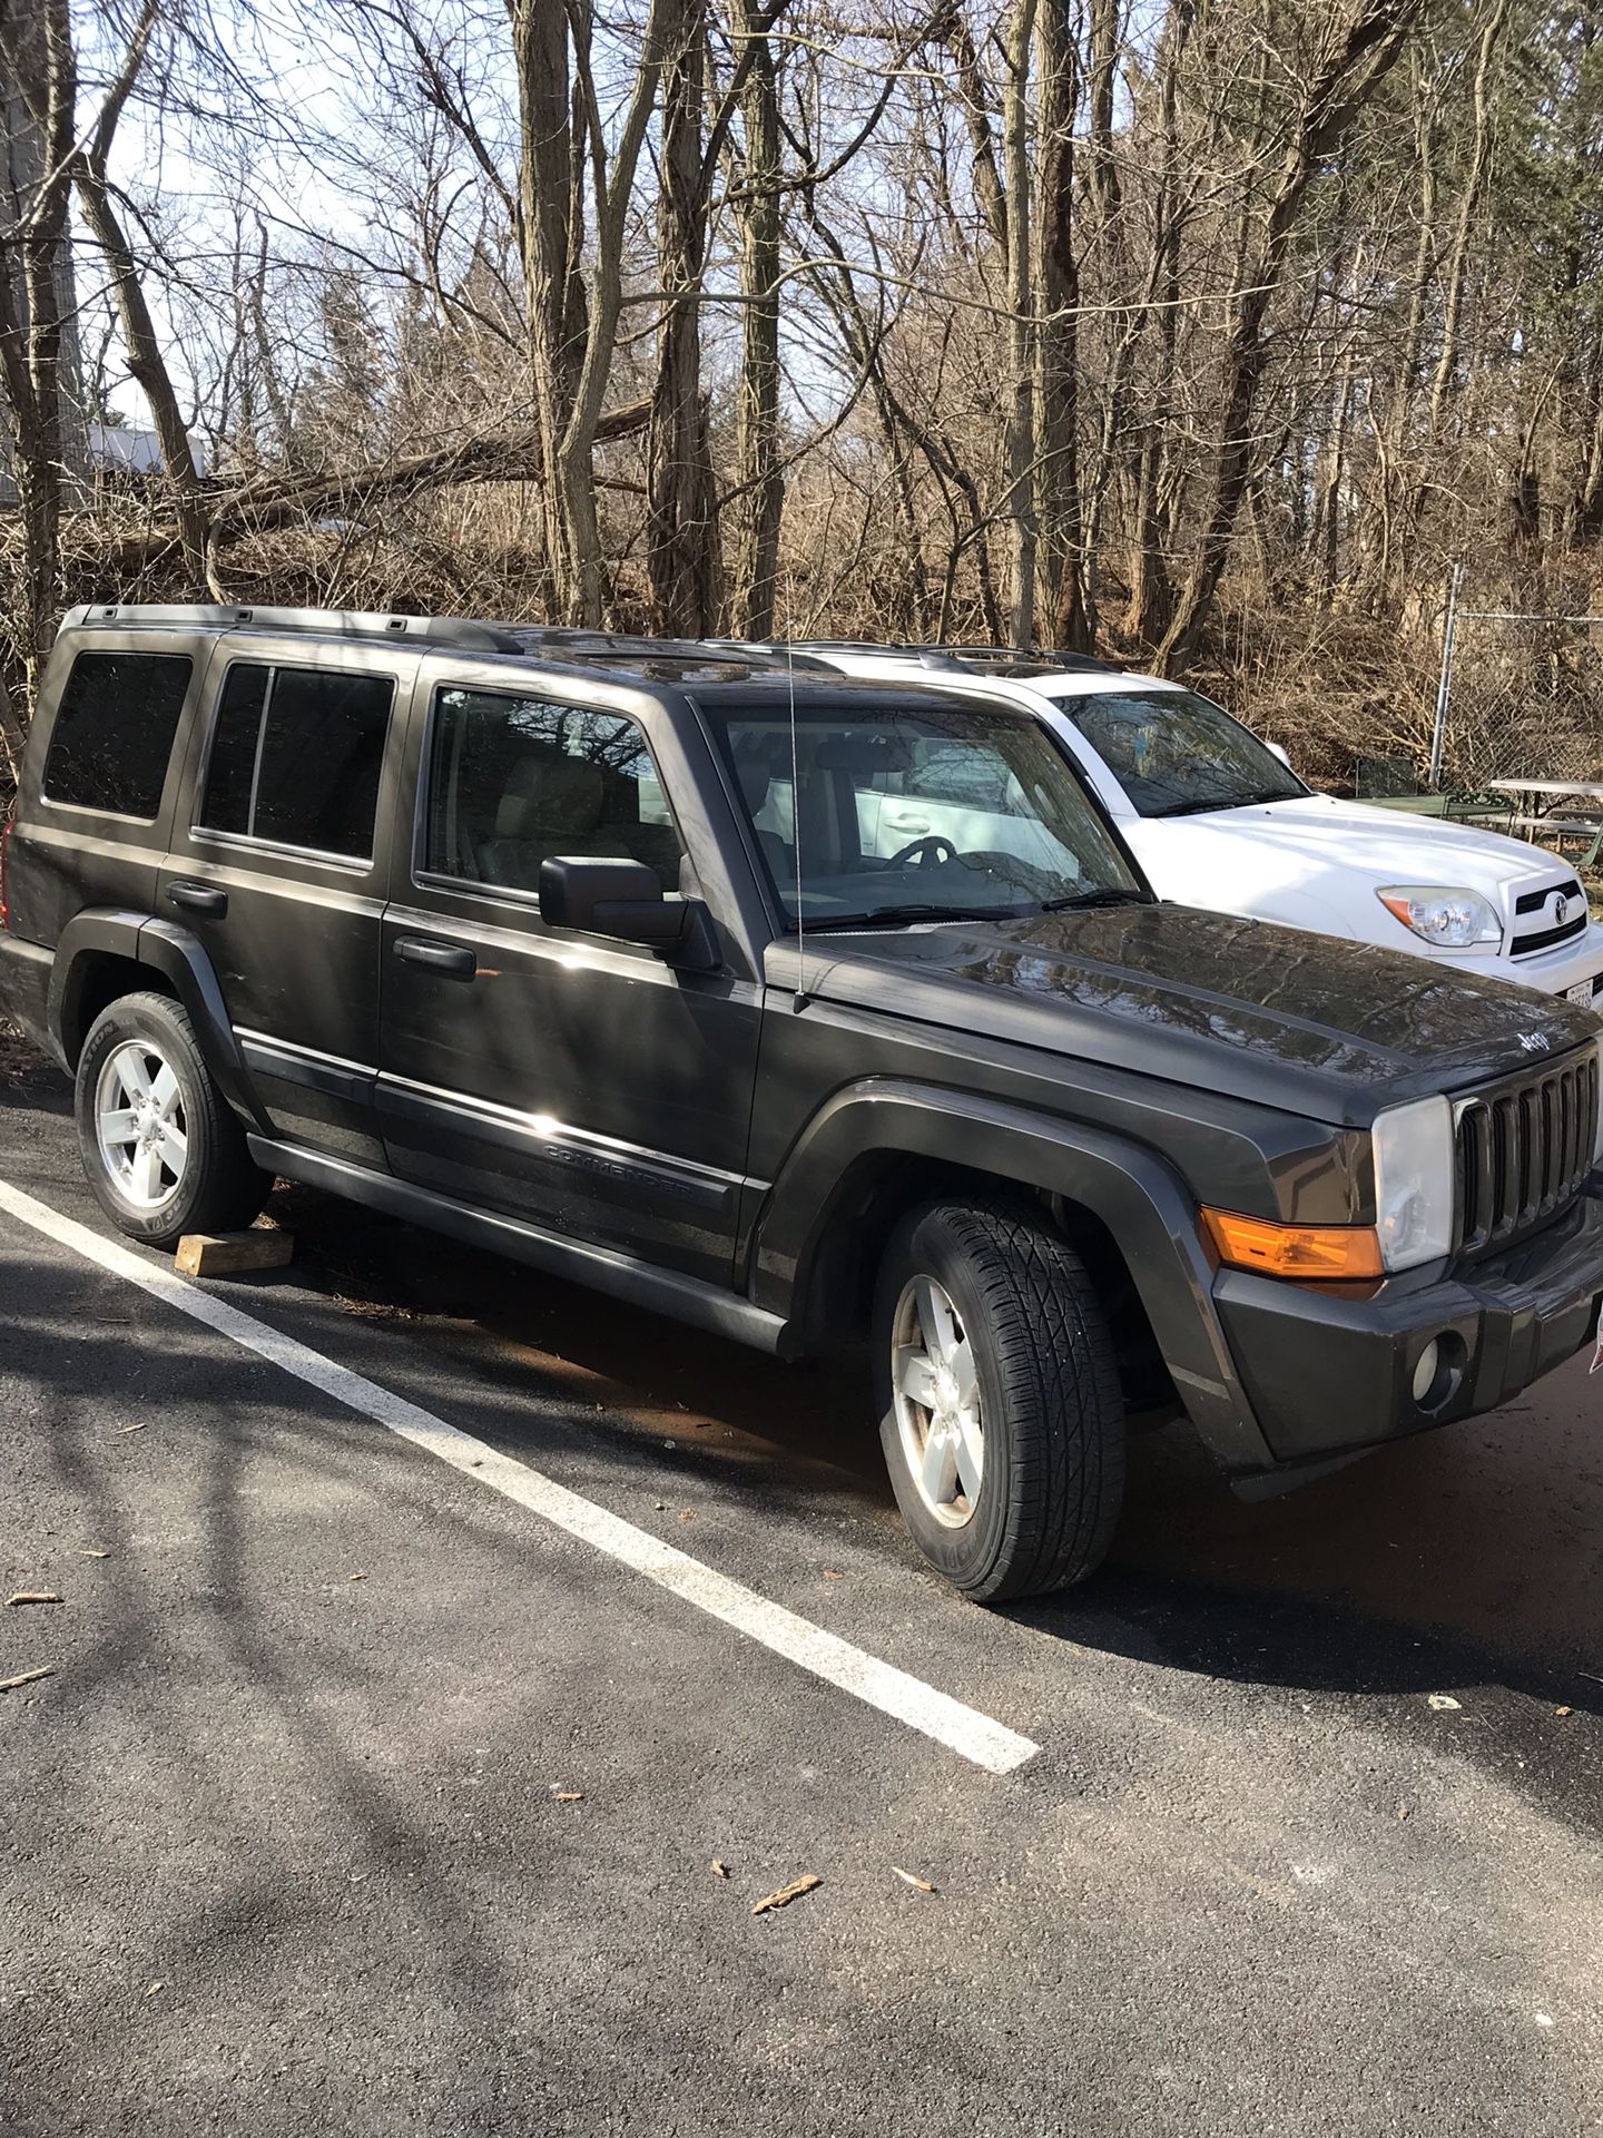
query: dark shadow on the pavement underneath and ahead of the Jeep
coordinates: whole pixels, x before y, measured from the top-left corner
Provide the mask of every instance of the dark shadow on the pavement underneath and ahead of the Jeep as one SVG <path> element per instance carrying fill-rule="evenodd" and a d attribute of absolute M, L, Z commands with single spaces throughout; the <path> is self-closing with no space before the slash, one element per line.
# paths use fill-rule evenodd
<path fill-rule="evenodd" d="M 368 1313 L 460 1315 L 494 1341 L 477 1375 L 509 1398 L 532 1381 L 569 1394 L 596 1443 L 624 1432 L 690 1475 L 797 1501 L 823 1486 L 893 1522 L 859 1370 L 787 1368 L 496 1255 L 442 1268 L 427 1234 L 312 1191 L 278 1206 L 301 1281 Z M 1263 1503 L 1229 1490 L 1184 1422 L 1139 1435 L 1107 1567 L 1015 1616 L 1216 1678 L 1353 1695 L 1492 1680 L 1603 1713 L 1582 1674 L 1603 1672 L 1597 1388 L 1575 1360 L 1494 1417 Z"/>

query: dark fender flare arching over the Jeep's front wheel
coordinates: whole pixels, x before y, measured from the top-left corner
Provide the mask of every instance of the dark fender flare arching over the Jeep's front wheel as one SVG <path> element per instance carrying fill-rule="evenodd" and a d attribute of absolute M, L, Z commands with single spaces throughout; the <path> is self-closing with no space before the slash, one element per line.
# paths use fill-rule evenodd
<path fill-rule="evenodd" d="M 885 1157 L 962 1165 L 1090 1210 L 1126 1259 L 1210 1452 L 1227 1471 L 1274 1462 L 1214 1311 L 1214 1261 L 1193 1195 L 1156 1152 L 1101 1129 L 917 1082 L 844 1086 L 806 1125 L 769 1191 L 752 1264 L 759 1306 L 806 1326 L 821 1251 L 844 1217 L 853 1174 Z"/>

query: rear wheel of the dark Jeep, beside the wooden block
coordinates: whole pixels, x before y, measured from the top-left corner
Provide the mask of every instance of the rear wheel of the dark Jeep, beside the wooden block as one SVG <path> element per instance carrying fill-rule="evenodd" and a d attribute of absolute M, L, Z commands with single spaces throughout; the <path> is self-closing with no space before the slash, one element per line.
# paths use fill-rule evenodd
<path fill-rule="evenodd" d="M 274 1184 L 212 1082 L 194 1026 L 165 994 L 124 994 L 90 1026 L 77 1063 L 77 1142 L 111 1223 L 171 1246 L 239 1231 Z"/>

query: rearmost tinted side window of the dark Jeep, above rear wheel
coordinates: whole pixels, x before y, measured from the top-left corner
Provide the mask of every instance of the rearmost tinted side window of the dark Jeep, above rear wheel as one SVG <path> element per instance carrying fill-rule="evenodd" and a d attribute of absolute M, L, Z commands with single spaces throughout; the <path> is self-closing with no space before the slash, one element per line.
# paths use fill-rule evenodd
<path fill-rule="evenodd" d="M 45 800 L 156 817 L 190 686 L 186 654 L 79 654 L 45 759 Z"/>

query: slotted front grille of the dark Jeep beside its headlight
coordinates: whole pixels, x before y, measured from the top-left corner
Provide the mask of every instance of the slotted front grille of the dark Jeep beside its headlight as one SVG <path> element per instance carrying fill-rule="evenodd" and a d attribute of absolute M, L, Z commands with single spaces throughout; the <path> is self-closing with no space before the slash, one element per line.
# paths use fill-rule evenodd
<path fill-rule="evenodd" d="M 1577 1195 L 1592 1169 L 1597 1103 L 1592 1048 L 1458 1101 L 1460 1253 L 1505 1246 Z"/>

